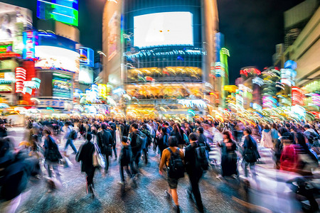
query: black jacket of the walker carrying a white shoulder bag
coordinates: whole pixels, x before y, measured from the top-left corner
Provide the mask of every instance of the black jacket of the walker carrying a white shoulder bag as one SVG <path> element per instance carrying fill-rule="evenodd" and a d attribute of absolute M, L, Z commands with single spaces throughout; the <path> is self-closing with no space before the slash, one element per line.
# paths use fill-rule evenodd
<path fill-rule="evenodd" d="M 82 143 L 82 145 L 80 146 L 79 151 L 75 156 L 75 160 L 77 160 L 78 162 L 81 161 L 82 172 L 90 172 L 95 168 L 92 162 L 92 155 L 94 151 L 95 145 L 93 145 L 93 143 L 89 141 Z"/>

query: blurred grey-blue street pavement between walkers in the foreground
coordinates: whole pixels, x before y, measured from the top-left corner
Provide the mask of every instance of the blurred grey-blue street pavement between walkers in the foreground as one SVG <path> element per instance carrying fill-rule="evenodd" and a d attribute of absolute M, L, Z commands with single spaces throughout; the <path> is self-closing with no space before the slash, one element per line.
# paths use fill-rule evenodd
<path fill-rule="evenodd" d="M 11 136 L 16 144 L 23 140 L 24 129 L 11 129 Z M 60 136 L 58 136 L 60 140 Z M 83 139 L 77 139 L 75 146 L 78 149 Z M 59 144 L 63 149 L 65 141 Z M 117 151 L 119 153 L 119 144 Z M 112 158 L 107 176 L 103 177 L 100 171 L 95 173 L 95 190 L 97 197 L 92 199 L 86 194 L 85 174 L 80 172 L 80 163 L 75 162 L 75 155 L 68 148 L 73 166 L 59 167 L 63 187 L 53 193 L 48 193 L 46 178 L 31 179 L 23 192 L 21 204 L 17 212 L 174 212 L 174 202 L 167 200 L 164 190 L 168 189 L 166 174 L 158 173 L 159 157 L 149 149 L 149 163 L 141 161 L 142 175 L 137 180 L 137 187 L 127 180 L 127 185 L 118 184 L 119 165 Z M 43 168 L 43 167 L 42 167 Z M 45 176 L 46 170 L 43 168 Z M 125 174 L 127 175 L 127 174 Z M 200 182 L 200 190 L 206 212 L 247 212 L 244 207 L 245 192 L 240 180 L 220 180 L 215 170 L 208 170 Z M 178 200 L 182 212 L 197 212 L 196 206 L 190 200 L 185 190 L 189 186 L 188 176 L 178 181 Z"/>

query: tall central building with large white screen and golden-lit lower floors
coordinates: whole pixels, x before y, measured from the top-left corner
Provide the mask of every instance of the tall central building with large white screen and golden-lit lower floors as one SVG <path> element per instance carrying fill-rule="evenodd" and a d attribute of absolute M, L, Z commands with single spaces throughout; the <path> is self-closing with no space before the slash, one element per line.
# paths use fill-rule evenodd
<path fill-rule="evenodd" d="M 101 75 L 123 85 L 127 116 L 203 114 L 221 96 L 215 1 L 107 1 L 102 31 Z"/>

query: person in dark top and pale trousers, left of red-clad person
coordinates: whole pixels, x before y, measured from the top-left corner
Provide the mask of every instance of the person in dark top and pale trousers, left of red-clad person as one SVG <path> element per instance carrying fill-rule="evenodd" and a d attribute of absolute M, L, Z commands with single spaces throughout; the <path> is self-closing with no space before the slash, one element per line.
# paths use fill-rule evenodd
<path fill-rule="evenodd" d="M 250 167 L 250 173 L 252 178 L 257 182 L 257 174 L 255 172 L 255 162 L 260 158 L 259 152 L 257 151 L 257 142 L 255 138 L 251 136 L 251 129 L 245 128 L 243 134 L 245 135 L 245 142 L 243 143 L 243 159 L 242 159 L 242 168 L 245 171 L 245 177 L 247 178 L 248 171 L 247 166 Z"/>

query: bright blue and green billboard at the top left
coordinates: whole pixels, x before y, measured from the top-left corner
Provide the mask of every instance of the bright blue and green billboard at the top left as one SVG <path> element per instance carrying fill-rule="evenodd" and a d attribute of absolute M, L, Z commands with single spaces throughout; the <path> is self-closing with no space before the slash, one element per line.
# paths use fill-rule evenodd
<path fill-rule="evenodd" d="M 38 0 L 37 17 L 78 26 L 78 0 Z"/>

